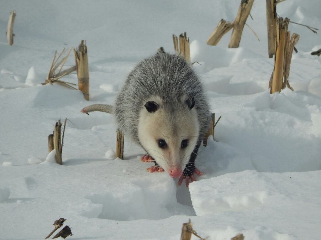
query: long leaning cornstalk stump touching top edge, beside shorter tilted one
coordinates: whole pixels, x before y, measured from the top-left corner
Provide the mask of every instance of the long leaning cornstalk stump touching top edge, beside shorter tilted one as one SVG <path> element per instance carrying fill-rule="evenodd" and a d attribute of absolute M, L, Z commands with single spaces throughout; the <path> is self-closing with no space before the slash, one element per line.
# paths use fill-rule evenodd
<path fill-rule="evenodd" d="M 242 31 L 243 31 L 245 22 L 247 20 L 247 17 L 250 14 L 253 2 L 254 0 L 241 0 L 239 11 L 233 22 L 233 31 L 230 38 L 229 48 L 239 47 Z"/>

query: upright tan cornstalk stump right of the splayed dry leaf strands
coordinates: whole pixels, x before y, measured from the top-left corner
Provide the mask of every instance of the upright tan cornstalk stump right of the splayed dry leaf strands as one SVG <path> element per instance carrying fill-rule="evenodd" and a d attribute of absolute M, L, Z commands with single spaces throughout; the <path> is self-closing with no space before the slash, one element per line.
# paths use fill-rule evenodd
<path fill-rule="evenodd" d="M 89 68 L 87 57 L 87 46 L 84 40 L 74 49 L 76 70 L 78 77 L 78 89 L 82 91 L 84 98 L 89 101 Z"/>

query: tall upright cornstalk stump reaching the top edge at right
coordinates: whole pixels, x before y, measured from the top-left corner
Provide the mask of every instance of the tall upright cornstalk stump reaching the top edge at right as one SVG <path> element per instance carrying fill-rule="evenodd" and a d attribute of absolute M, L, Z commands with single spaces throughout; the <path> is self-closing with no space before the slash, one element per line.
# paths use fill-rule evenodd
<path fill-rule="evenodd" d="M 266 0 L 266 25 L 269 58 L 273 58 L 276 34 L 276 0 Z"/>

